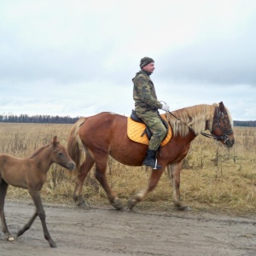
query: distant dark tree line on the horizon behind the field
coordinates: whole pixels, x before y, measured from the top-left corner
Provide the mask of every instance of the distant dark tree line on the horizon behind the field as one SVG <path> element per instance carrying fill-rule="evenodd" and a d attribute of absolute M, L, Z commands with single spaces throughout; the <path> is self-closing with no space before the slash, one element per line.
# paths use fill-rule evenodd
<path fill-rule="evenodd" d="M 79 117 L 27 114 L 0 114 L 1 123 L 74 124 Z M 234 126 L 256 127 L 256 121 L 234 121 Z"/>

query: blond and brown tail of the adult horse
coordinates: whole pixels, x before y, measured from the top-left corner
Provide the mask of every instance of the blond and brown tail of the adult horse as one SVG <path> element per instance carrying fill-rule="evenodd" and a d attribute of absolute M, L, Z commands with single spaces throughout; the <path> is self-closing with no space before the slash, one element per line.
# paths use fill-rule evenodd
<path fill-rule="evenodd" d="M 82 158 L 81 141 L 79 137 L 79 127 L 84 124 L 86 118 L 80 118 L 72 127 L 68 141 L 67 141 L 67 152 L 76 164 L 76 170 L 79 172 L 80 162 Z"/>

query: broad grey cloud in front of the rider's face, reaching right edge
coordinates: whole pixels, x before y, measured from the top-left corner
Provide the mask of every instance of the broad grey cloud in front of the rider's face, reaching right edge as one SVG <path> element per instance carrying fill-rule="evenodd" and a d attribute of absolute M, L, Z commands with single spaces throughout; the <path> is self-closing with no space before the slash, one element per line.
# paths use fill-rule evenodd
<path fill-rule="evenodd" d="M 160 58 L 162 76 L 209 84 L 251 84 L 256 86 L 256 37 L 237 41 L 207 41 L 177 49 Z"/>

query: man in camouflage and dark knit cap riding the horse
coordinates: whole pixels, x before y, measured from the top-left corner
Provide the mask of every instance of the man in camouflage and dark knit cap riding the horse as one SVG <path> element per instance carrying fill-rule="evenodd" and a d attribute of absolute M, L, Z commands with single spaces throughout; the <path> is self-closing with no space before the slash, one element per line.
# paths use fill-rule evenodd
<path fill-rule="evenodd" d="M 154 90 L 154 84 L 149 76 L 154 72 L 154 60 L 144 57 L 140 63 L 141 70 L 136 73 L 132 79 L 133 99 L 135 101 L 135 112 L 137 116 L 148 125 L 153 136 L 149 140 L 146 157 L 143 160 L 143 166 L 150 166 L 154 169 L 161 169 L 157 165 L 156 152 L 160 143 L 166 137 L 166 127 L 160 120 L 158 109 L 169 111 L 170 107 L 157 100 Z"/>

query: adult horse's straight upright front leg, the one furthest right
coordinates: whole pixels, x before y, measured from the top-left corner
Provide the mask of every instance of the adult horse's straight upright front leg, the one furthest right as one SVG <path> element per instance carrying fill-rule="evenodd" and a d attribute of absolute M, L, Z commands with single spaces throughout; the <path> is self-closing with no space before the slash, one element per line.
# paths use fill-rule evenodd
<path fill-rule="evenodd" d="M 182 169 L 183 161 L 181 160 L 177 164 L 169 165 L 168 171 L 171 171 L 172 175 L 172 187 L 173 187 L 173 203 L 180 211 L 189 211 L 189 206 L 184 205 L 180 200 L 180 172 Z M 171 170 L 169 169 L 171 168 Z"/>

